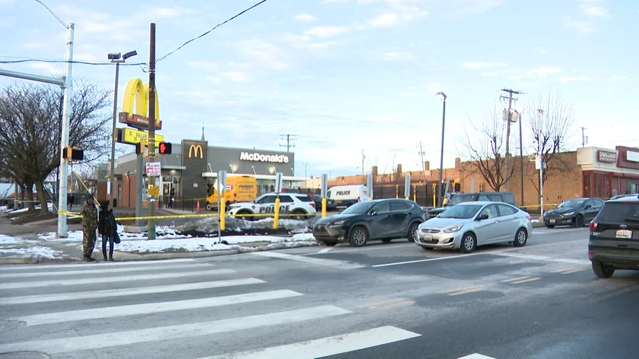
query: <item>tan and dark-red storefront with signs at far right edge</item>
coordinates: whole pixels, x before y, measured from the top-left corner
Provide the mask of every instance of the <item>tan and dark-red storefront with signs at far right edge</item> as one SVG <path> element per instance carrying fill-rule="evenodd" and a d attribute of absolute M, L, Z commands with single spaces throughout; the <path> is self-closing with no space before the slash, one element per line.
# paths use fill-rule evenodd
<path fill-rule="evenodd" d="M 639 148 L 579 148 L 583 197 L 608 199 L 639 191 Z"/>

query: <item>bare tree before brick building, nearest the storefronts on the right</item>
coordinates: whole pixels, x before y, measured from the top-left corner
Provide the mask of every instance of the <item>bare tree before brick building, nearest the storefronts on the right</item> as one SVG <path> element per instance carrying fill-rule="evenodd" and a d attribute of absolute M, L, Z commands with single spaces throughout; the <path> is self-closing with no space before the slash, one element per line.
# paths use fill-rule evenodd
<path fill-rule="evenodd" d="M 569 162 L 561 155 L 574 148 L 574 113 L 572 105 L 564 101 L 559 91 L 547 94 L 541 92 L 528 99 L 526 124 L 532 133 L 532 153 L 541 154 L 546 162 L 544 182 L 550 177 L 571 170 Z M 527 167 L 528 169 L 528 167 Z M 539 193 L 539 173 L 526 170 L 528 180 Z"/>

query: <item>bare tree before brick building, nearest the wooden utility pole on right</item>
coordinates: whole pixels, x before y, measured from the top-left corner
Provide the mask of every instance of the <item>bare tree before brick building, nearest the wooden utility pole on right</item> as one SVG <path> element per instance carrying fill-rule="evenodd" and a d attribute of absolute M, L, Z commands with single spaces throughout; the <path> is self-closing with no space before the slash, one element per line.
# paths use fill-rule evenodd
<path fill-rule="evenodd" d="M 493 191 L 499 191 L 513 177 L 515 166 L 506 167 L 506 121 L 497 107 L 488 111 L 483 121 L 469 120 L 472 131 L 466 126 L 464 136 L 459 138 L 458 151 L 466 160 L 464 170 L 479 173 Z M 509 158 L 511 160 L 511 158 Z"/>

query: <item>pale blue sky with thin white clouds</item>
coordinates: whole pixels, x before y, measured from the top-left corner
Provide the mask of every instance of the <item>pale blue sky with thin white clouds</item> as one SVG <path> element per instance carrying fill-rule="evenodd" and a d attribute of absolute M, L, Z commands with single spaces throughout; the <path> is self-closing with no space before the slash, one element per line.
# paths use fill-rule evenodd
<path fill-rule="evenodd" d="M 128 62 L 144 63 L 149 23 L 160 57 L 259 2 L 42 1 L 75 23 L 74 60 L 136 50 Z M 65 28 L 38 2 L 0 0 L 0 13 L 0 61 L 64 59 Z M 515 109 L 560 92 L 572 105 L 573 149 L 581 127 L 588 145 L 639 146 L 637 34 L 636 0 L 268 0 L 157 63 L 161 133 L 199 139 L 204 126 L 209 145 L 263 150 L 296 135 L 296 174 L 333 177 L 361 173 L 362 151 L 364 172 L 420 170 L 421 142 L 433 169 L 444 92 L 452 167 L 464 129 L 506 106 L 498 98 L 508 88 L 523 92 Z M 64 64 L 0 68 L 48 75 Z M 111 64 L 75 64 L 72 75 L 114 87 Z M 148 81 L 141 67 L 121 67 L 120 94 L 136 77 Z"/>

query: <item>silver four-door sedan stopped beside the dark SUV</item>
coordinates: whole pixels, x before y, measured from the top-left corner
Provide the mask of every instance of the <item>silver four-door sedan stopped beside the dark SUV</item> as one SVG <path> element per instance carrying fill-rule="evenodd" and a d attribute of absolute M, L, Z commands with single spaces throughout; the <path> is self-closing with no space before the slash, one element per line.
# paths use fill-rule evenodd
<path fill-rule="evenodd" d="M 459 249 L 471 253 L 478 245 L 526 244 L 532 235 L 530 214 L 501 202 L 464 202 L 417 227 L 415 243 L 425 249 Z"/>

